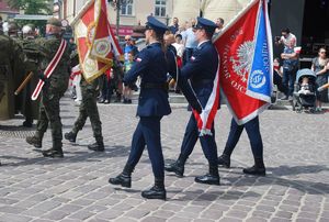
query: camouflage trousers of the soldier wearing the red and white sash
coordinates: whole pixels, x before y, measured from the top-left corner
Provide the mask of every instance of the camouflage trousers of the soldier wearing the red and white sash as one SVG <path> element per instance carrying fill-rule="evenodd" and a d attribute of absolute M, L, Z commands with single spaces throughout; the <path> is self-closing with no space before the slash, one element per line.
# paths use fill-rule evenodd
<path fill-rule="evenodd" d="M 61 148 L 63 131 L 59 116 L 59 100 L 64 93 L 44 93 L 41 98 L 39 115 L 36 123 L 36 136 L 43 137 L 50 122 L 53 148 Z"/>

